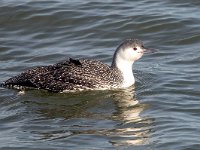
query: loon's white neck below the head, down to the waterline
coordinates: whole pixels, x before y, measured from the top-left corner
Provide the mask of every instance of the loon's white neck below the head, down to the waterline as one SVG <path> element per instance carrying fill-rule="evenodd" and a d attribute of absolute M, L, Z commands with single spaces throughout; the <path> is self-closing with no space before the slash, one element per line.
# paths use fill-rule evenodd
<path fill-rule="evenodd" d="M 120 56 L 115 56 L 113 59 L 111 67 L 116 67 L 121 71 L 123 76 L 122 87 L 129 87 L 135 83 L 135 78 L 133 76 L 132 70 L 133 63 L 134 62 L 124 60 Z"/>

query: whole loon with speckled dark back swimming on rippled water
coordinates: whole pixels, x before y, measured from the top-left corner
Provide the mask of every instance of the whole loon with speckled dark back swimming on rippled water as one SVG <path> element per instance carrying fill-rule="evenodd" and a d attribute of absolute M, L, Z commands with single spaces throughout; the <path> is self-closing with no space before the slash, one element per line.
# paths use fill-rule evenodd
<path fill-rule="evenodd" d="M 124 89 L 135 83 L 132 65 L 148 52 L 138 39 L 126 39 L 115 50 L 111 65 L 93 59 L 74 59 L 33 67 L 2 83 L 3 87 L 43 89 L 63 93 Z"/>

